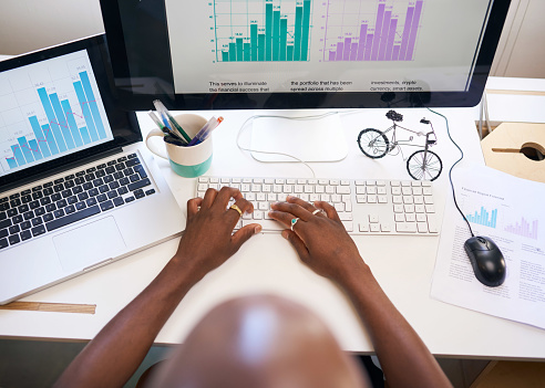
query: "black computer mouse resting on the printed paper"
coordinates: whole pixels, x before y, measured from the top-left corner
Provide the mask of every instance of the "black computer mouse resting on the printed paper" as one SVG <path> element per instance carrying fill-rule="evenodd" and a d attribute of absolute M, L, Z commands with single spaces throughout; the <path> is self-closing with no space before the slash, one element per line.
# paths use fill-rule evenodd
<path fill-rule="evenodd" d="M 494 241 L 486 237 L 472 237 L 464 243 L 465 252 L 476 279 L 495 287 L 505 281 L 505 259 Z"/>

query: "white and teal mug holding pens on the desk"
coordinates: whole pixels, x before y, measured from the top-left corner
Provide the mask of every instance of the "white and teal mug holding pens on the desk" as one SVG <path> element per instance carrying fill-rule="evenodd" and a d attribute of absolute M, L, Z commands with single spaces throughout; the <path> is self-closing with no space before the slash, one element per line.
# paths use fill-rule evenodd
<path fill-rule="evenodd" d="M 206 118 L 193 114 L 178 115 L 175 116 L 174 119 L 192 138 L 207 123 Z M 195 178 L 205 174 L 210 167 L 213 151 L 212 135 L 203 143 L 191 147 L 177 146 L 163 141 L 166 154 L 161 150 L 154 141 L 150 141 L 154 136 L 164 137 L 165 134 L 158 128 L 153 129 L 147 134 L 147 148 L 158 157 L 167 159 L 171 164 L 171 168 L 177 175 L 184 178 Z"/>

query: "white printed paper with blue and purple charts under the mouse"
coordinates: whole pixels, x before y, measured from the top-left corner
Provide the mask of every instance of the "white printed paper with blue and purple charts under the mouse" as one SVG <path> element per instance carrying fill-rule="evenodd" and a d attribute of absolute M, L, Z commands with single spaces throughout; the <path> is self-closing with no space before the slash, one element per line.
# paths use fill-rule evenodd
<path fill-rule="evenodd" d="M 443 222 L 431 295 L 443 302 L 545 328 L 545 185 L 487 168 L 454 169 L 460 208 L 475 235 L 491 238 L 507 265 L 504 284 L 474 276 L 463 249 L 471 234 L 452 198 Z"/>

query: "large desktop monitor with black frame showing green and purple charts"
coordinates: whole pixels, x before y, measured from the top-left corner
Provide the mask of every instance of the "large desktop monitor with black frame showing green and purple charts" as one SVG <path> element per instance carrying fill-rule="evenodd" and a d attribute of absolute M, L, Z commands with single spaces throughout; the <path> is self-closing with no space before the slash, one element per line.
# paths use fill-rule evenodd
<path fill-rule="evenodd" d="M 127 107 L 472 106 L 510 0 L 102 0 Z"/>

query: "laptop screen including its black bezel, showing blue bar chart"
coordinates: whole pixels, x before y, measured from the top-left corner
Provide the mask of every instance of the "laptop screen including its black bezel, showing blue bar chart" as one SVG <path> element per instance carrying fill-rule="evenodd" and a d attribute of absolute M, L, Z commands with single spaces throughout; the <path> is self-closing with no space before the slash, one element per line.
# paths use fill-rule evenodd
<path fill-rule="evenodd" d="M 103 34 L 0 61 L 0 191 L 142 140 Z"/>

